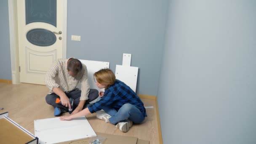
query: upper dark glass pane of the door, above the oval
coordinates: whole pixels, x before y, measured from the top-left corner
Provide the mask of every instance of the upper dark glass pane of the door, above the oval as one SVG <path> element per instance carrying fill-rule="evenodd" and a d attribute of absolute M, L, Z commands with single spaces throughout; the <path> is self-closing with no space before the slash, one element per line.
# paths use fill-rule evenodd
<path fill-rule="evenodd" d="M 32 22 L 56 27 L 56 0 L 26 0 L 26 24 Z"/>

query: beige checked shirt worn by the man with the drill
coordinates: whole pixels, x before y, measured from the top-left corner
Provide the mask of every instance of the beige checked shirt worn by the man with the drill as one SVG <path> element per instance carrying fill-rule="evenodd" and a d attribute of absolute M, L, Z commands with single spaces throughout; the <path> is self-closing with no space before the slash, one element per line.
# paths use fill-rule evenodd
<path fill-rule="evenodd" d="M 53 88 L 60 88 L 65 93 L 74 91 L 79 82 L 81 82 L 80 101 L 87 100 L 90 87 L 88 84 L 88 72 L 85 64 L 82 64 L 81 71 L 77 76 L 72 77 L 67 71 L 67 61 L 69 59 L 58 59 L 54 61 L 51 69 L 45 75 L 45 84 L 50 89 L 49 94 L 53 93 Z"/>

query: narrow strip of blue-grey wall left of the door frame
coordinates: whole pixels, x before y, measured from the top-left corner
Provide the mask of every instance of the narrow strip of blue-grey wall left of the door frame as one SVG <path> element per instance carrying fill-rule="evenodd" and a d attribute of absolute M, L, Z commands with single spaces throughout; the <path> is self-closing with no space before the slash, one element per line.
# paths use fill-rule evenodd
<path fill-rule="evenodd" d="M 0 0 L 0 79 L 11 80 L 8 0 Z"/>

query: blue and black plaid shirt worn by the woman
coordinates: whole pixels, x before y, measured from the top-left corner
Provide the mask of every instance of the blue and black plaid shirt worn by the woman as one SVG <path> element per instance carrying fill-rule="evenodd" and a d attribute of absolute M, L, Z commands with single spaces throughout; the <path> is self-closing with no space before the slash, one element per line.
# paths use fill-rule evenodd
<path fill-rule="evenodd" d="M 105 90 L 101 100 L 88 106 L 88 109 L 93 113 L 110 106 L 118 111 L 124 104 L 134 105 L 143 113 L 144 117 L 147 117 L 146 109 L 139 96 L 128 85 L 117 79 Z"/>

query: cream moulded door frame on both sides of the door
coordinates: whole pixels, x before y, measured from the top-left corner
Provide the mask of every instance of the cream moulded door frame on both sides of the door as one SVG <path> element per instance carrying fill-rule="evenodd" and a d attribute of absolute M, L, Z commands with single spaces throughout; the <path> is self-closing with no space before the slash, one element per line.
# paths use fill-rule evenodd
<path fill-rule="evenodd" d="M 67 58 L 67 0 L 63 0 L 62 58 Z M 17 0 L 8 0 L 12 84 L 20 84 Z"/>

